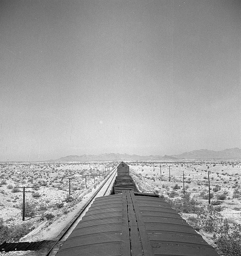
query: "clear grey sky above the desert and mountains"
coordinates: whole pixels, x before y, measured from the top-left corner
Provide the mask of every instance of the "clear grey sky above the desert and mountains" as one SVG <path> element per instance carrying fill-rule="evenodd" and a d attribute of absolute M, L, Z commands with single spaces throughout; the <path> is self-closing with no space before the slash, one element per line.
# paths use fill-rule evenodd
<path fill-rule="evenodd" d="M 241 147 L 240 3 L 0 1 L 0 161 Z"/>

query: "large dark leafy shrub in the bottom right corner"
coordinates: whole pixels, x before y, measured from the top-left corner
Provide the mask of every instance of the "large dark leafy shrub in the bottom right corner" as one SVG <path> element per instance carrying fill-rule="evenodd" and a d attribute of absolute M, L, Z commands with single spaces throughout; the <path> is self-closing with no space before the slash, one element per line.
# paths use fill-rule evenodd
<path fill-rule="evenodd" d="M 227 220 L 224 220 L 213 235 L 218 252 L 225 256 L 241 255 L 240 233 L 241 225 L 230 225 Z"/>

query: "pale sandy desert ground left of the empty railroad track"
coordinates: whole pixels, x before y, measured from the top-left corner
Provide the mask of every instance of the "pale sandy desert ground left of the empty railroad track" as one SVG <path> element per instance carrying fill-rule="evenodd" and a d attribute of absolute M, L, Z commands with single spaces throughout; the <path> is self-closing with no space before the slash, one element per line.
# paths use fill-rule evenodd
<path fill-rule="evenodd" d="M 4 224 L 22 224 L 21 203 L 22 192 L 13 192 L 12 187 L 36 186 L 26 191 L 34 191 L 40 197 L 33 197 L 34 193 L 26 193 L 26 203 L 34 207 L 33 216 L 25 217 L 24 223 L 34 226 L 34 230 L 20 241 L 38 241 L 54 239 L 81 207 L 98 189 L 107 172 L 108 163 L 31 163 L 31 164 L 1 164 L 0 188 L 0 218 Z M 101 176 L 99 178 L 99 171 Z M 93 174 L 95 173 L 95 183 Z M 103 174 L 104 173 L 104 174 Z M 87 176 L 87 188 L 85 187 Z M 71 196 L 73 201 L 67 203 L 69 194 L 69 180 L 71 178 Z M 46 218 L 51 213 L 53 218 Z"/>

